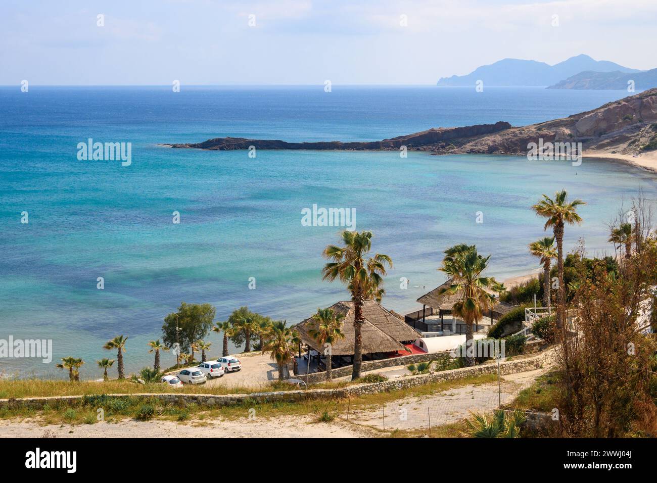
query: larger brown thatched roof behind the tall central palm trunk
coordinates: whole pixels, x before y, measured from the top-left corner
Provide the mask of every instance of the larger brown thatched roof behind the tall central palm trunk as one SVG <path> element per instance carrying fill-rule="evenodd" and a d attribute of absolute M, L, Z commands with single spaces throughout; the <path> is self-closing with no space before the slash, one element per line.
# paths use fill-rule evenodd
<path fill-rule="evenodd" d="M 331 348 L 334 356 L 351 356 L 353 354 L 353 341 L 355 334 L 353 332 L 353 302 L 338 302 L 332 305 L 336 313 L 344 314 L 344 323 L 342 333 L 344 338 L 335 342 Z M 363 317 L 365 323 L 361 330 L 363 336 L 363 354 L 373 354 L 375 352 L 397 352 L 405 350 L 401 341 L 415 340 L 419 333 L 412 327 L 396 317 L 392 312 L 386 310 L 374 300 L 366 300 L 363 304 Z M 316 329 L 317 321 L 313 317 L 298 323 L 294 326 L 299 333 L 303 342 L 318 352 L 323 352 L 324 348 L 309 335 L 309 329 Z"/>

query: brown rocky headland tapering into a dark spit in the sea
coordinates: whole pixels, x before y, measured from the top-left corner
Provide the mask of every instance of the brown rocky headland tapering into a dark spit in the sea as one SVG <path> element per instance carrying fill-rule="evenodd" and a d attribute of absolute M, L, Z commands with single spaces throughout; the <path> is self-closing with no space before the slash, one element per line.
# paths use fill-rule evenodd
<path fill-rule="evenodd" d="M 657 149 L 657 89 L 625 97 L 567 118 L 512 127 L 508 122 L 466 127 L 439 127 L 382 141 L 288 143 L 276 139 L 217 137 L 202 143 L 167 144 L 207 150 L 427 150 L 435 154 L 526 154 L 528 143 L 582 143 L 585 150 L 639 154 Z"/>

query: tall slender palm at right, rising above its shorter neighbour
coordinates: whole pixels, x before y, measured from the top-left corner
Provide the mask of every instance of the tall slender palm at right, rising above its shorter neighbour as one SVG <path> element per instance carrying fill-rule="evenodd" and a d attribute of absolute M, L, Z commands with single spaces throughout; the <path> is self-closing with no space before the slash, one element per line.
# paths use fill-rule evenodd
<path fill-rule="evenodd" d="M 543 199 L 532 206 L 537 216 L 547 218 L 543 229 L 547 230 L 549 227 L 553 228 L 556 239 L 556 266 L 559 274 L 559 287 L 558 287 L 558 307 L 556 311 L 556 327 L 563 327 L 563 321 L 566 315 L 566 287 L 564 287 L 564 226 L 580 224 L 582 222 L 581 216 L 578 215 L 577 207 L 586 204 L 582 200 L 576 199 L 572 202 L 566 202 L 566 190 L 562 189 L 555 193 L 553 200 L 547 195 L 543 195 Z"/>

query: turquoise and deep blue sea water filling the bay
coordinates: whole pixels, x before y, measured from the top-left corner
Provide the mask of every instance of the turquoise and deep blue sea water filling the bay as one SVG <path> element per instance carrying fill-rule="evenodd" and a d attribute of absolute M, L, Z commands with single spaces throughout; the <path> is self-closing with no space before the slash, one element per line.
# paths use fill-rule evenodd
<path fill-rule="evenodd" d="M 248 305 L 298 322 L 348 298 L 321 281 L 321 251 L 338 227 L 304 227 L 313 204 L 355 208 L 389 254 L 385 305 L 403 312 L 443 281 L 441 252 L 457 242 L 492 254 L 500 279 L 537 267 L 526 250 L 542 223 L 529 206 L 565 187 L 589 204 L 566 230 L 603 254 L 606 223 L 657 177 L 616 162 L 528 162 L 516 156 L 409 152 L 206 152 L 158 147 L 223 135 L 371 140 L 432 126 L 565 116 L 621 97 L 614 91 L 435 87 L 0 88 L 0 338 L 52 338 L 54 358 L 83 357 L 100 377 L 102 344 L 127 334 L 128 371 L 148 363 L 146 343 L 185 302 L 210 302 L 217 319 Z M 133 143 L 132 164 L 78 161 L 76 145 Z M 20 223 L 29 212 L 30 223 Z M 171 222 L 180 212 L 181 223 Z M 476 212 L 484 223 L 476 223 Z M 104 290 L 97 290 L 104 277 Z M 248 289 L 249 277 L 256 289 Z M 399 278 L 410 280 L 399 288 Z M 215 354 L 221 349 L 212 334 Z M 60 375 L 54 362 L 0 359 L 0 368 Z M 171 365 L 175 357 L 163 356 Z M 63 375 L 62 375 L 63 376 Z"/>

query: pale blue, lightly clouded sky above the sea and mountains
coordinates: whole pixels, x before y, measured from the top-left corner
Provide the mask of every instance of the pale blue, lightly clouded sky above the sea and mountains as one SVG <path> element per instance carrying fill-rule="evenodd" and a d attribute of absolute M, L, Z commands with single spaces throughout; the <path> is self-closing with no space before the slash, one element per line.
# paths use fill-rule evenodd
<path fill-rule="evenodd" d="M 2 0 L 0 85 L 435 84 L 582 53 L 647 70 L 656 26 L 657 0 Z"/>

